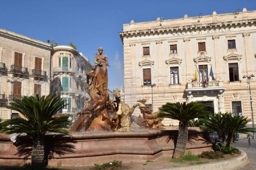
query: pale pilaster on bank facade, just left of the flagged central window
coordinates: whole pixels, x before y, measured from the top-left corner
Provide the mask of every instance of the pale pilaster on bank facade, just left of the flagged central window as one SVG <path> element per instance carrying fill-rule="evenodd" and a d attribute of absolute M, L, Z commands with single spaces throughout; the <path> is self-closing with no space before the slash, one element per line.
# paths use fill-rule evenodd
<path fill-rule="evenodd" d="M 184 38 L 183 41 L 185 42 L 186 80 L 189 82 L 192 79 L 190 38 Z"/>

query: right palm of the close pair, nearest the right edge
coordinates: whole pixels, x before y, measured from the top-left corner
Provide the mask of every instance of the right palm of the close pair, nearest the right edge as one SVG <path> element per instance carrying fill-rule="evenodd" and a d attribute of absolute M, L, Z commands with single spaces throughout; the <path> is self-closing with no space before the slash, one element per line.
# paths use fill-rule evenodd
<path fill-rule="evenodd" d="M 227 126 L 227 131 L 228 131 L 228 136 L 227 136 L 227 142 L 226 146 L 233 146 L 234 142 L 234 135 L 236 133 L 243 133 L 247 135 L 251 135 L 250 132 L 253 132 L 253 128 L 246 128 L 246 125 L 248 122 L 250 122 L 250 119 L 246 119 L 247 117 L 244 116 L 231 116 L 230 114 L 230 122 L 229 125 Z"/>

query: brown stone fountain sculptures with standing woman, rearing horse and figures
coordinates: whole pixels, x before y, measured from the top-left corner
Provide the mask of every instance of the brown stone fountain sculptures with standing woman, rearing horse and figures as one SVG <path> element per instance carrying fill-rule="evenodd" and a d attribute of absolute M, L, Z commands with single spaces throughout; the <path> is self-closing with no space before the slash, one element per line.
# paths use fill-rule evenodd
<path fill-rule="evenodd" d="M 115 101 L 109 101 L 107 94 L 107 56 L 103 48 L 98 48 L 99 54 L 95 55 L 95 64 L 91 71 L 86 73 L 87 92 L 90 100 L 78 112 L 78 118 L 70 128 L 71 132 L 79 131 L 132 131 L 131 123 L 136 122 L 142 128 L 163 129 L 162 119 L 156 118 L 157 112 L 145 107 L 145 99 L 139 100 L 132 108 L 121 101 L 119 90 L 113 90 Z M 110 67 L 110 66 L 109 66 Z M 115 105 L 115 103 L 117 105 Z M 139 106 L 143 117 L 132 116 L 134 109 Z M 114 116 L 111 116 L 114 114 Z M 130 118 L 130 119 L 129 119 Z M 130 121 L 131 120 L 131 121 Z"/>

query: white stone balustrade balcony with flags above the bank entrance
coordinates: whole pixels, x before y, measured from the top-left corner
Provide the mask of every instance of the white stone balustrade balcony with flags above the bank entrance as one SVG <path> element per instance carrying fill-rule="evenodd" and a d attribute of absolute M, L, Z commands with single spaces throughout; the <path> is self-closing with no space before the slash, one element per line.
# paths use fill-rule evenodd
<path fill-rule="evenodd" d="M 226 88 L 223 87 L 223 81 L 208 82 L 189 82 L 185 91 L 188 95 L 201 95 L 201 94 L 222 94 Z"/>

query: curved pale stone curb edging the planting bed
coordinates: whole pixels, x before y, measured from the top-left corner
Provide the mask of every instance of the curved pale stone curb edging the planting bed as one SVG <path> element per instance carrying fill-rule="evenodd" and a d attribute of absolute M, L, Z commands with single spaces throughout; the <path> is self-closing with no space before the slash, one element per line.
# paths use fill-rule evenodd
<path fill-rule="evenodd" d="M 232 158 L 229 160 L 224 160 L 221 162 L 213 162 L 199 165 L 187 165 L 181 167 L 172 167 L 172 168 L 161 168 L 154 170 L 233 170 L 237 168 L 241 168 L 248 163 L 247 155 L 244 151 L 241 151 L 241 155 L 237 158 Z"/>

